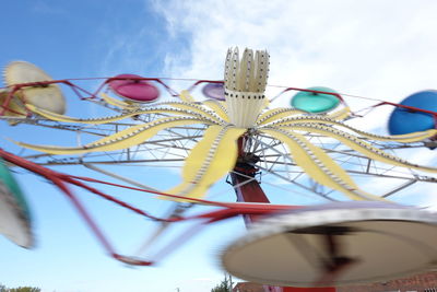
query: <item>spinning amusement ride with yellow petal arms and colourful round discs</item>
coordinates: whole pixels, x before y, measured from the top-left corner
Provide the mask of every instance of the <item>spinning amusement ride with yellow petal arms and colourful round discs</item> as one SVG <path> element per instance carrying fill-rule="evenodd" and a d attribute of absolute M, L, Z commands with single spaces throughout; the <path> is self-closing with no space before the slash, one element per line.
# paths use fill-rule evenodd
<path fill-rule="evenodd" d="M 146 247 L 176 222 L 196 220 L 208 225 L 243 215 L 248 232 L 227 247 L 221 261 L 229 273 L 253 282 L 344 285 L 436 268 L 437 215 L 395 203 L 390 197 L 414 184 L 437 183 L 436 167 L 397 155 L 437 147 L 437 92 L 418 92 L 400 104 L 367 101 L 364 108 L 352 108 L 346 100 L 351 96 L 328 87 L 284 87 L 276 96 L 267 96 L 269 55 L 250 49 L 243 56 L 237 48 L 229 49 L 224 72 L 224 81 L 198 80 L 176 92 L 164 79 L 120 74 L 52 80 L 32 63 L 8 65 L 0 92 L 4 126 L 20 130 L 33 125 L 78 135 L 86 142 L 59 147 L 12 140 L 19 151 L 0 149 L 0 233 L 20 246 L 33 246 L 29 207 L 11 172 L 24 168 L 58 187 L 106 252 L 129 265 L 154 261 L 118 254 L 70 186 L 156 221 Z M 84 81 L 101 83 L 92 92 L 79 85 Z M 68 98 L 64 89 L 69 89 Z M 158 100 L 163 92 L 166 97 Z M 291 93 L 295 93 L 291 106 L 272 106 L 273 100 Z M 72 100 L 113 115 L 71 117 L 66 112 Z M 381 106 L 393 108 L 390 136 L 351 126 L 355 120 L 363 124 L 366 113 Z M 56 137 L 50 142 L 57 144 Z M 168 190 L 104 167 L 168 163 L 181 167 L 181 183 Z M 50 168 L 56 165 L 83 166 L 109 180 Z M 204 199 L 226 175 L 237 202 Z M 271 203 L 261 178 L 280 182 L 294 196 L 310 194 L 326 202 Z M 365 186 L 368 182 L 389 182 L 390 189 L 374 194 Z M 173 211 L 157 218 L 95 185 L 158 195 L 174 205 Z M 192 214 L 197 206 L 214 208 Z"/>

